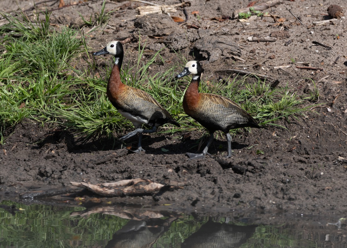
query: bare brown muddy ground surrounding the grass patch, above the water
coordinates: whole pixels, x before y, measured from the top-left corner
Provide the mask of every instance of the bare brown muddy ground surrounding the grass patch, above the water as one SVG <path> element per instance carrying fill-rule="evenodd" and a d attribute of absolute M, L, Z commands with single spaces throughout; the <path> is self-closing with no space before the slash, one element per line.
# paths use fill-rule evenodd
<path fill-rule="evenodd" d="M 177 2 L 164 1 L 168 5 Z M 163 4 L 163 1 L 158 3 Z M 186 181 L 189 185 L 153 197 L 126 197 L 119 201 L 147 205 L 169 202 L 173 208 L 205 211 L 344 213 L 347 207 L 347 160 L 344 159 L 347 158 L 347 26 L 343 18 L 324 25 L 314 25 L 313 22 L 329 19 L 327 8 L 331 4 L 346 8 L 345 2 L 327 0 L 319 4 L 314 0 L 284 0 L 271 7 L 271 11 L 267 10 L 286 18 L 279 25 L 271 17 L 252 17 L 253 20 L 243 23 L 229 18 L 233 11 L 248 3 L 246 0 L 235 3 L 193 0 L 191 6 L 186 7 L 187 25 L 178 26 L 165 15 L 155 14 L 150 18 L 155 22 L 149 22 L 149 17 L 137 18 L 135 9 L 139 3 L 111 1 L 106 4 L 106 12 L 121 8 L 112 13 L 109 26 L 102 32 L 88 33 L 86 39 L 92 52 L 103 48 L 108 41 L 122 38 L 126 51 L 124 63 L 130 64 L 137 58 L 139 31 L 149 50 L 157 51 L 170 45 L 160 53 L 168 64 L 158 65 L 152 68 L 153 71 L 164 70 L 179 61 L 172 52 L 176 49 L 183 55 L 189 54 L 188 60 L 201 60 L 205 74 L 214 80 L 220 76 L 235 76 L 220 72 L 222 69 L 244 69 L 266 74 L 279 80 L 281 86 L 288 84 L 303 94 L 313 89 L 312 81 L 307 80 L 312 78 L 320 98 L 307 104 L 321 105 L 307 111 L 305 116 L 290 118 L 290 122 L 279 121 L 278 124 L 286 129 L 266 125 L 259 130 L 252 129 L 250 133 L 240 130 L 232 140 L 232 158 L 225 158 L 227 142 L 219 137 L 210 147 L 212 156 L 189 161 L 185 152 L 196 152 L 203 130 L 144 135 L 146 152 L 134 154 L 121 149 L 118 141 L 99 139 L 81 143 L 72 133 L 25 120 L 1 146 L 0 190 L 24 192 L 82 180 L 102 183 L 137 177 L 155 182 L 171 179 Z M 19 1 L 19 5 L 22 9 L 29 7 L 27 1 Z M 11 12 L 17 8 L 6 3 L 3 9 Z M 89 18 L 99 13 L 100 8 L 100 1 L 86 1 L 56 10 L 51 15 L 51 23 L 81 26 L 78 13 Z M 299 16 L 304 25 L 299 24 L 286 8 Z M 192 11 L 199 11 L 199 14 L 194 16 Z M 171 15 L 185 19 L 179 8 Z M 223 16 L 221 22 L 213 20 Z M 189 28 L 193 24 L 198 29 Z M 269 36 L 281 29 L 286 29 L 289 37 L 285 35 L 276 42 L 247 41 L 249 36 Z M 85 33 L 88 30 L 85 28 Z M 285 46 L 289 40 L 291 43 Z M 312 41 L 332 49 L 326 50 Z M 148 58 L 151 55 L 149 52 Z M 237 60 L 235 56 L 245 61 Z M 111 63 L 108 57 L 104 59 L 104 63 Z M 299 62 L 323 70 L 296 68 L 296 65 L 306 65 Z M 274 67 L 283 65 L 289 67 Z M 101 69 L 100 74 L 103 73 Z M 120 137 L 124 132 L 116 130 L 115 136 Z M 137 137 L 128 142 L 136 145 Z M 264 154 L 256 154 L 258 149 Z"/>

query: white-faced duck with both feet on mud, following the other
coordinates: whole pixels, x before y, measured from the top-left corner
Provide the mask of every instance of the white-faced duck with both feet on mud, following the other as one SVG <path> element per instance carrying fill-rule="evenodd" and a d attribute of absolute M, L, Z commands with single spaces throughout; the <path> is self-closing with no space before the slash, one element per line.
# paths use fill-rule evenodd
<path fill-rule="evenodd" d="M 231 99 L 216 94 L 200 93 L 198 91 L 203 68 L 196 60 L 188 61 L 183 71 L 176 75 L 181 78 L 189 74 L 192 81 L 183 97 L 183 109 L 188 116 L 204 126 L 210 133 L 210 138 L 200 154 L 187 152 L 189 159 L 204 158 L 214 139 L 215 131 L 226 134 L 228 142 L 228 155 L 231 157 L 230 130 L 240 127 L 261 128 L 255 119 Z"/>

